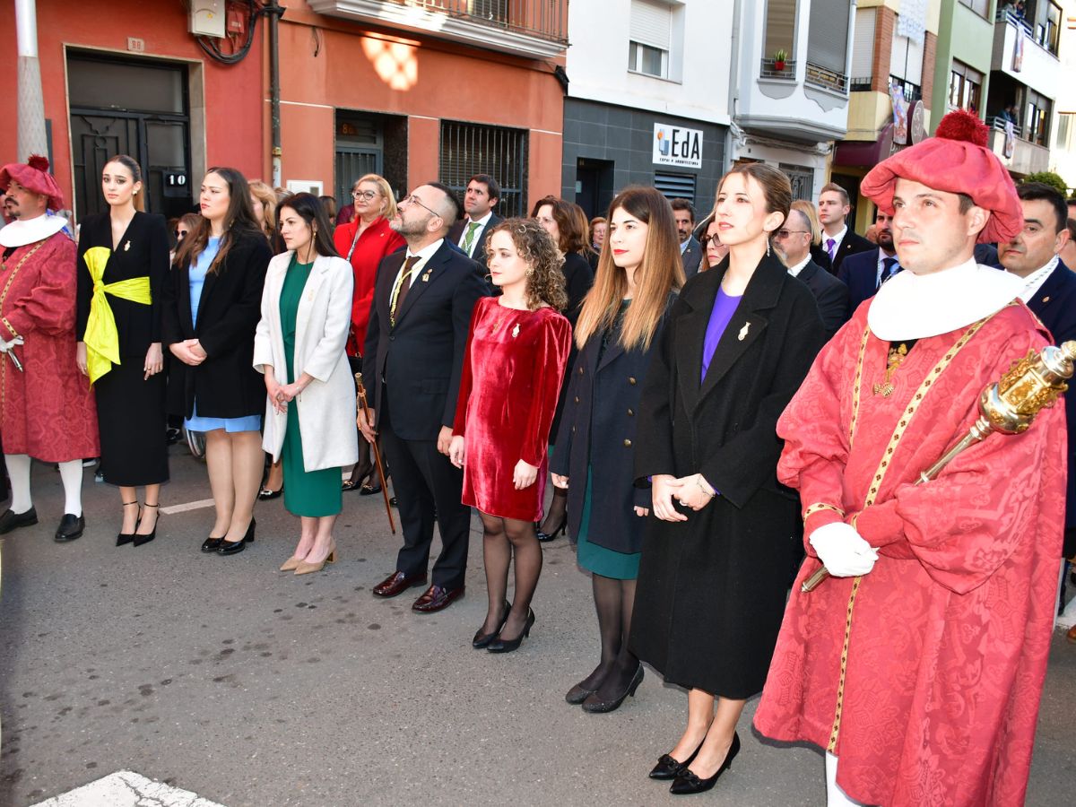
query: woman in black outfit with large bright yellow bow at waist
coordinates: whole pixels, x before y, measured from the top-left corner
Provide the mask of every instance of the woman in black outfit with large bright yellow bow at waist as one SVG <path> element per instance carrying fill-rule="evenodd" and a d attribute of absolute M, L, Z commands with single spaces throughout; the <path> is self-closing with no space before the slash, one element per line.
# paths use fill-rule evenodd
<path fill-rule="evenodd" d="M 141 547 L 156 537 L 168 481 L 160 348 L 168 229 L 164 216 L 142 212 L 142 169 L 131 157 L 109 160 L 101 187 L 109 211 L 87 216 L 79 230 L 76 357 L 97 397 L 101 473 L 119 486 L 124 506 L 116 546 Z M 114 330 L 105 326 L 110 312 Z"/>

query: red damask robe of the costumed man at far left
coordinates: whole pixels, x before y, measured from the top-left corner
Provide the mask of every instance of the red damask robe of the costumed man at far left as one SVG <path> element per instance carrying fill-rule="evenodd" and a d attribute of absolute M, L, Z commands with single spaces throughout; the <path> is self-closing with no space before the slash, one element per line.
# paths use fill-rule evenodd
<path fill-rule="evenodd" d="M 99 453 L 97 409 L 74 357 L 75 286 L 75 244 L 62 232 L 15 247 L 0 266 L 0 337 L 25 340 L 14 349 L 23 372 L 0 354 L 5 454 L 66 463 Z"/>

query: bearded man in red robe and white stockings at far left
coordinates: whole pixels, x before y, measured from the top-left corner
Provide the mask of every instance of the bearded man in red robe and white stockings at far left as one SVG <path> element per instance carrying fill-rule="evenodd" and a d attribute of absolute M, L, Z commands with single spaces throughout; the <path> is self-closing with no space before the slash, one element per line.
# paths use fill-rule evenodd
<path fill-rule="evenodd" d="M 0 229 L 0 441 L 11 478 L 11 507 L 0 535 L 38 523 L 30 458 L 58 463 L 63 518 L 57 541 L 79 538 L 82 461 L 97 456 L 97 410 L 75 365 L 75 244 L 48 160 L 30 157 L 0 169 L 13 221 Z"/>

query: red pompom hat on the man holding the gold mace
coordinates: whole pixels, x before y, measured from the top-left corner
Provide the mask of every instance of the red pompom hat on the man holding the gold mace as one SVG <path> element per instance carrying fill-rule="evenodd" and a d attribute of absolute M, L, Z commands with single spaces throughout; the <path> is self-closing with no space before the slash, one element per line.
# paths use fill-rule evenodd
<path fill-rule="evenodd" d="M 870 169 L 860 190 L 878 208 L 893 213 L 896 180 L 919 182 L 935 190 L 966 194 L 990 211 L 979 241 L 1004 243 L 1023 229 L 1023 208 L 1009 172 L 987 147 L 990 130 L 971 112 L 958 110 L 942 118 L 926 138 Z"/>

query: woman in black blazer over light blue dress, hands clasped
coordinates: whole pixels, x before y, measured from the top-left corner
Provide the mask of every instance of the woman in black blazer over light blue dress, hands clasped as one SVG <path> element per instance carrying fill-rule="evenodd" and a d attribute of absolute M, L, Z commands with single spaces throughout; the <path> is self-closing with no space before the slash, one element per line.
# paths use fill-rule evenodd
<path fill-rule="evenodd" d="M 254 540 L 261 481 L 265 385 L 254 371 L 254 330 L 272 257 L 233 168 L 211 168 L 199 194 L 201 221 L 175 254 L 165 286 L 165 342 L 179 363 L 188 429 L 206 433 L 216 522 L 202 552 L 230 555 Z"/>

